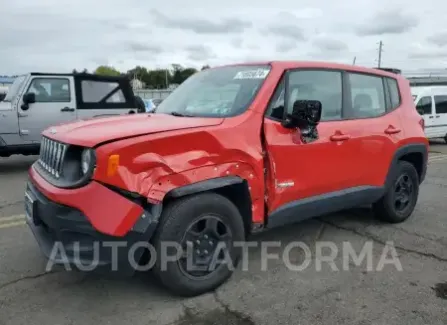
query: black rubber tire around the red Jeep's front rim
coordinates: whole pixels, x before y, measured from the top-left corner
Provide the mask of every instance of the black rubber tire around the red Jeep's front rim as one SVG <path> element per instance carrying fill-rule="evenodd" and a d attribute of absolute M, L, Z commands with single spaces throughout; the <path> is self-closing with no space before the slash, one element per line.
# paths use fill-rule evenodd
<path fill-rule="evenodd" d="M 191 275 L 186 274 L 184 268 L 180 266 L 179 261 L 162 262 L 162 258 L 160 258 L 163 253 L 162 243 L 175 242 L 181 245 L 188 227 L 194 225 L 198 220 L 202 220 L 201 218 L 204 216 L 210 216 L 210 219 L 220 219 L 219 225 L 225 225 L 231 231 L 228 256 L 230 256 L 232 264 L 230 267 L 225 265 L 217 267 L 211 274 L 202 278 L 191 278 Z M 151 241 L 157 253 L 153 267 L 154 274 L 165 287 L 180 296 L 192 297 L 214 291 L 231 277 L 239 262 L 241 249 L 234 247 L 233 243 L 244 240 L 242 216 L 237 207 L 226 197 L 215 193 L 201 193 L 175 200 L 169 203 L 163 211 L 160 224 Z M 175 250 L 174 247 L 172 249 Z M 167 249 L 170 256 L 175 255 L 173 250 Z M 194 252 L 198 251 L 194 247 Z"/>

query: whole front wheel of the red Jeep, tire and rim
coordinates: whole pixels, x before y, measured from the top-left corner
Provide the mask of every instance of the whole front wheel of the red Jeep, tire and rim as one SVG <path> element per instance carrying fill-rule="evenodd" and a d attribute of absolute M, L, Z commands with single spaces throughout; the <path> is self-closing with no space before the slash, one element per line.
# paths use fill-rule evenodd
<path fill-rule="evenodd" d="M 157 253 L 153 271 L 175 294 L 213 291 L 231 277 L 241 256 L 234 243 L 244 240 L 242 216 L 226 197 L 202 193 L 181 198 L 163 211 L 152 240 Z M 174 261 L 166 258 L 176 253 Z"/>

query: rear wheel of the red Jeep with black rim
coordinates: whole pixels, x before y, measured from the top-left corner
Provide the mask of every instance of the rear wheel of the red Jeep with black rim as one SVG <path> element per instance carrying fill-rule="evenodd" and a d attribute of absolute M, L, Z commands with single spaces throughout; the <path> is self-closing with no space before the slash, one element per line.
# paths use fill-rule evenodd
<path fill-rule="evenodd" d="M 391 176 L 391 186 L 373 205 L 376 217 L 389 223 L 407 220 L 414 211 L 419 196 L 419 175 L 416 168 L 406 161 L 399 161 Z"/>

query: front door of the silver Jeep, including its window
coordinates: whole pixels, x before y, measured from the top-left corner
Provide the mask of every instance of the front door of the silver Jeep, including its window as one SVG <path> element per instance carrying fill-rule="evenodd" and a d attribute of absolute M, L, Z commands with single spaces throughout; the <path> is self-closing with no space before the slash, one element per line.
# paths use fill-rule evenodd
<path fill-rule="evenodd" d="M 18 102 L 19 132 L 26 142 L 40 142 L 46 128 L 76 120 L 76 100 L 72 77 L 34 76 L 26 88 L 36 101 L 28 107 Z"/>

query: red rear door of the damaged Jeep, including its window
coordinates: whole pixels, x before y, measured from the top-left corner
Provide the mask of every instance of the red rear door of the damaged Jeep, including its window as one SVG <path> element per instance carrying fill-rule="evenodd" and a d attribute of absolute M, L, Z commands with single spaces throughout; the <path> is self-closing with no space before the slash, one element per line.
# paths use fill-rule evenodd
<path fill-rule="evenodd" d="M 354 150 L 350 158 L 358 164 L 353 167 L 357 179 L 352 183 L 379 190 L 384 185 L 396 143 L 404 137 L 398 109 L 402 103 L 398 81 L 348 71 L 346 82 L 349 103 L 343 112 L 344 130 Z"/>

